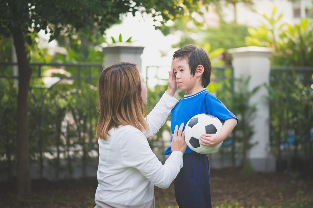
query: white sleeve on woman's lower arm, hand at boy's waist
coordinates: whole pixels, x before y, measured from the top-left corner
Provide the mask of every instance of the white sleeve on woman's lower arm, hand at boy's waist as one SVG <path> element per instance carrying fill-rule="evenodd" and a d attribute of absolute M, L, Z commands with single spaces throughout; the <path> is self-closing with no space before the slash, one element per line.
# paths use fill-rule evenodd
<path fill-rule="evenodd" d="M 136 168 L 155 186 L 168 188 L 182 168 L 181 151 L 173 151 L 162 165 L 139 130 L 127 132 L 121 142 L 124 166 Z"/>

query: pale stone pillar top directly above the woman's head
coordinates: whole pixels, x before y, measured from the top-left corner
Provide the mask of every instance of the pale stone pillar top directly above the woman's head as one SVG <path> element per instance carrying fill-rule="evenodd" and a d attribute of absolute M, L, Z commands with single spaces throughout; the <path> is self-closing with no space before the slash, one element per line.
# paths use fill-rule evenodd
<path fill-rule="evenodd" d="M 141 71 L 141 54 L 144 47 L 134 46 L 132 43 L 119 42 L 113 43 L 103 48 L 104 65 L 108 67 L 116 62 L 129 61 L 137 64 Z"/>

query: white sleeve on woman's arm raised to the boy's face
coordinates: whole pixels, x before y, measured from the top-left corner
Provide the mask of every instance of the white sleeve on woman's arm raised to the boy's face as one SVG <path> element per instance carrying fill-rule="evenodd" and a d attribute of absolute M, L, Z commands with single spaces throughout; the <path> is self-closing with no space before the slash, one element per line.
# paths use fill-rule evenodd
<path fill-rule="evenodd" d="M 149 126 L 149 131 L 144 130 L 142 133 L 146 137 L 155 135 L 161 126 L 163 126 L 168 115 L 171 113 L 172 107 L 175 106 L 177 102 L 178 100 L 175 97 L 164 92 L 159 102 L 145 118 Z"/>

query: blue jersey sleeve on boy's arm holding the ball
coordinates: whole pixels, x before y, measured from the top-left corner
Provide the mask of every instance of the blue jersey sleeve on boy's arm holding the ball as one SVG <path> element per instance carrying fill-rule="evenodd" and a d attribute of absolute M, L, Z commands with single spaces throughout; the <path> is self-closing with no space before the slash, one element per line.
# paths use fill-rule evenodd
<path fill-rule="evenodd" d="M 217 117 L 222 123 L 229 118 L 235 118 L 237 120 L 236 126 L 238 125 L 238 118 L 215 95 L 208 93 L 206 105 L 208 114 Z"/>

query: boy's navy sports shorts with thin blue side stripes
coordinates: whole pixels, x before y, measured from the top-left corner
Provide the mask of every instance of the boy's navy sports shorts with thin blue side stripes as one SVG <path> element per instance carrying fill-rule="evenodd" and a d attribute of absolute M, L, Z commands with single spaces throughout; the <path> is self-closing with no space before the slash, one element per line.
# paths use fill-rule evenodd
<path fill-rule="evenodd" d="M 180 208 L 211 208 L 208 156 L 192 152 L 183 157 L 184 165 L 174 181 Z"/>

